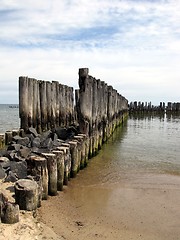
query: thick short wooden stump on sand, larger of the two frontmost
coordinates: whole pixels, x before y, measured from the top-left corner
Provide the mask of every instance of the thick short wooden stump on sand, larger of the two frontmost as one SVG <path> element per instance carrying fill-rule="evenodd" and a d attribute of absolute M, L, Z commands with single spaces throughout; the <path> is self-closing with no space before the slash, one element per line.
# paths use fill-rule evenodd
<path fill-rule="evenodd" d="M 20 179 L 15 185 L 15 200 L 20 210 L 33 211 L 38 206 L 38 184 L 29 179 Z"/>

